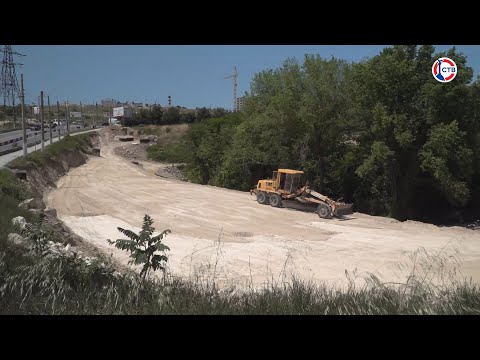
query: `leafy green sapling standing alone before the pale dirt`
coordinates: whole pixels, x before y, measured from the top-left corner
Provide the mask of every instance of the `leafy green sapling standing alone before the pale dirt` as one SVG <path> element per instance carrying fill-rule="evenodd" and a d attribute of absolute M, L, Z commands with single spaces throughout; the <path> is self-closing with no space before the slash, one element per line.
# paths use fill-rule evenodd
<path fill-rule="evenodd" d="M 107 240 L 109 244 L 115 245 L 116 248 L 130 252 L 131 260 L 128 262 L 129 264 L 143 264 L 140 276 L 144 280 L 150 270 L 156 271 L 160 269 L 165 272 L 165 264 L 168 261 L 165 251 L 170 250 L 168 246 L 162 244 L 162 239 L 171 233 L 171 231 L 167 229 L 157 236 L 152 236 L 155 231 L 152 225 L 152 218 L 149 215 L 145 215 L 140 233 L 135 234 L 131 230 L 117 227 L 118 231 L 127 236 L 129 240 Z M 160 252 L 161 254 L 157 254 L 156 252 Z"/>

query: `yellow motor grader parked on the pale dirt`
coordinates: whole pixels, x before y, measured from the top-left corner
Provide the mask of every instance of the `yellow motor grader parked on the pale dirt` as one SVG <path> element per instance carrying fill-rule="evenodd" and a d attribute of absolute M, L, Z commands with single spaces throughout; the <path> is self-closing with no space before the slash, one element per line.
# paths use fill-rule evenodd
<path fill-rule="evenodd" d="M 322 195 L 306 184 L 300 187 L 303 171 L 278 169 L 271 179 L 259 180 L 250 194 L 257 196 L 259 204 L 273 207 L 291 207 L 299 210 L 315 211 L 319 217 L 330 219 L 353 213 L 353 204 L 337 202 Z"/>

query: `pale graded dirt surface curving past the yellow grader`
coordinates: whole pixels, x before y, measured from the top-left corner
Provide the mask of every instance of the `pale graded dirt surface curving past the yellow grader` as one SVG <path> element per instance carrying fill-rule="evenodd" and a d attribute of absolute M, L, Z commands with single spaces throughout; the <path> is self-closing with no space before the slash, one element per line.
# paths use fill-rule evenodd
<path fill-rule="evenodd" d="M 446 257 L 456 252 L 460 275 L 480 280 L 479 231 L 360 213 L 325 220 L 260 205 L 248 192 L 155 176 L 160 165 L 132 164 L 114 154 L 115 146 L 106 144 L 101 157 L 60 179 L 47 203 L 77 235 L 121 262 L 128 261 L 127 254 L 107 239 L 122 238 L 118 226 L 139 230 L 149 214 L 157 230 L 172 231 L 164 241 L 171 249 L 169 267 L 184 277 L 261 286 L 295 273 L 342 285 L 345 270 L 357 268 L 383 281 L 405 281 L 413 267 L 408 255 L 423 247 Z M 404 272 L 396 269 L 399 263 L 407 265 Z"/>

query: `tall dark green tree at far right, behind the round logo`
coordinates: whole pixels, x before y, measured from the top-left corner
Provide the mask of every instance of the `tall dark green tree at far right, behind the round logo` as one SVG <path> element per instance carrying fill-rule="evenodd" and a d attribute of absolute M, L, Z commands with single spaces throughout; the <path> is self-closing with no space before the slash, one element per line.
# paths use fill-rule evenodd
<path fill-rule="evenodd" d="M 434 59 L 442 55 L 453 58 L 461 69 L 455 81 L 448 84 L 431 76 Z M 422 216 L 423 205 L 428 207 L 425 198 L 439 201 L 441 196 L 452 205 L 466 204 L 472 163 L 462 163 L 462 172 L 456 174 L 457 165 L 439 150 L 436 139 L 445 139 L 449 133 L 454 136 L 451 142 L 458 145 L 468 140 L 462 130 L 477 126 L 471 77 L 466 58 L 454 48 L 447 54 L 434 55 L 432 46 L 394 46 L 355 66 L 352 86 L 356 117 L 360 119 L 360 146 L 365 154 L 357 171 L 361 182 L 356 198 L 359 203 L 366 197 L 376 199 L 375 204 L 363 201 L 370 204 L 363 211 L 383 207 L 380 214 L 390 213 L 403 220 Z M 441 125 L 453 124 L 454 120 L 456 125 Z M 373 145 L 379 141 L 389 154 L 389 166 L 383 166 L 383 170 L 371 166 L 372 158 L 378 155 L 378 146 Z M 471 159 L 471 148 L 470 140 L 459 150 Z M 382 182 L 383 196 L 376 197 Z"/>

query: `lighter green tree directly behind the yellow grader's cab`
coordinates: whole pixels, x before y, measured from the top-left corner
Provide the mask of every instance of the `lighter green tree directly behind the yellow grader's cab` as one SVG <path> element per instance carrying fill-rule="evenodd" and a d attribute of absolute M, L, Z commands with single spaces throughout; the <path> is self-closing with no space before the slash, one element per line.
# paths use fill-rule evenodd
<path fill-rule="evenodd" d="M 226 186 L 246 190 L 258 178 L 280 167 L 305 171 L 319 191 L 340 195 L 343 178 L 334 178 L 349 145 L 343 132 L 348 122 L 351 66 L 337 59 L 305 56 L 280 69 L 256 74 L 245 121 L 220 168 Z M 342 169 L 354 176 L 352 165 Z"/>

